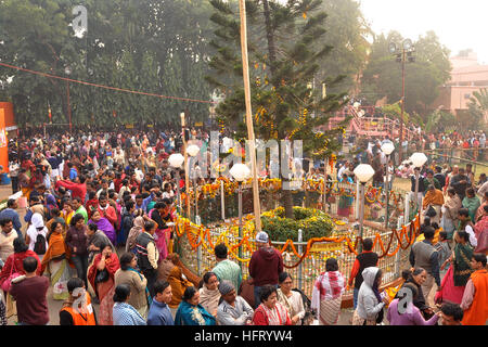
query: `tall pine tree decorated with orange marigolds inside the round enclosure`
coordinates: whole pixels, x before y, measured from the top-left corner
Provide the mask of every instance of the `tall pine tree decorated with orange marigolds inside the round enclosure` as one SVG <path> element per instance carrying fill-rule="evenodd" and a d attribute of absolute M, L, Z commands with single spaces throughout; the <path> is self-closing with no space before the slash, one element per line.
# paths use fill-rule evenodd
<path fill-rule="evenodd" d="M 216 108 L 219 120 L 234 127 L 237 139 L 244 139 L 239 8 L 235 1 L 210 3 L 215 9 L 210 20 L 216 25 L 210 44 L 216 52 L 209 63 L 213 75 L 207 80 L 224 94 Z M 320 43 L 326 35 L 326 14 L 320 11 L 321 3 L 322 0 L 248 0 L 246 10 L 256 138 L 303 140 L 305 155 L 323 159 L 339 149 L 338 137 L 349 119 L 326 130 L 331 116 L 347 100 L 345 93 L 322 98 L 322 85 L 331 88 L 343 76 L 318 79 L 319 63 L 333 49 Z M 293 218 L 291 191 L 283 191 L 283 200 L 286 217 Z"/>

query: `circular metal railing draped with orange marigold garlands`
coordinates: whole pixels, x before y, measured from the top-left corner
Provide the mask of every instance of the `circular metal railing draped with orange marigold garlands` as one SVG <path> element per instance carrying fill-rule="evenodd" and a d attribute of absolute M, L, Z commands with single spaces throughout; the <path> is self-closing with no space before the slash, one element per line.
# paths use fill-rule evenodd
<path fill-rule="evenodd" d="M 341 183 L 336 183 L 337 187 Z M 349 184 L 351 185 L 351 184 Z M 229 191 L 230 192 L 230 191 Z M 334 189 L 330 189 L 334 192 Z M 338 189 L 339 192 L 347 193 Z M 373 192 L 375 192 L 373 194 Z M 370 190 L 370 202 L 380 200 L 381 189 Z M 350 197 L 355 197 L 352 193 Z M 403 194 L 397 196 L 403 196 Z M 368 194 L 367 194 L 368 195 Z M 383 194 L 384 195 L 384 194 Z M 407 194 L 404 194 L 407 196 Z M 337 195 L 341 196 L 341 195 Z M 361 237 L 359 229 L 355 228 L 355 218 L 346 222 L 341 216 L 331 214 L 337 224 L 336 230 L 329 237 L 314 237 L 307 242 L 303 240 L 287 240 L 286 242 L 272 242 L 272 245 L 281 252 L 284 259 L 285 271 L 294 279 L 294 286 L 304 291 L 311 297 L 313 283 L 318 275 L 325 271 L 325 261 L 330 257 L 338 260 L 339 271 L 348 279 L 356 256 L 358 255 Z M 410 268 L 408 256 L 410 247 L 415 241 L 420 230 L 420 217 L 413 215 L 411 221 L 400 223 L 389 230 L 384 224 L 371 220 L 364 221 L 363 237 L 374 240 L 373 250 L 380 256 L 378 267 L 384 272 L 383 283 L 389 285 L 397 283 L 401 271 Z M 189 218 L 178 215 L 176 221 L 176 249 L 183 264 L 195 274 L 202 277 L 216 265 L 214 248 L 219 243 L 224 243 L 229 249 L 229 258 L 241 265 L 243 279 L 247 279 L 248 262 L 256 244 L 254 229 L 254 216 L 247 214 L 243 218 L 242 237 L 239 236 L 239 220 L 230 218 L 226 221 L 211 224 L 196 224 Z M 300 239 L 300 235 L 298 235 Z M 345 293 L 344 307 L 350 306 L 352 288 Z"/>

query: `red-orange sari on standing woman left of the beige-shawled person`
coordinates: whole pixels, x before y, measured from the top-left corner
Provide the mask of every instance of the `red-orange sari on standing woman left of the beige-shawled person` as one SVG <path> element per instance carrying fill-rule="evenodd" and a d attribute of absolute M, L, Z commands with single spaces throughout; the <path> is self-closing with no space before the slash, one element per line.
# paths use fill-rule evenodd
<path fill-rule="evenodd" d="M 97 266 L 101 259 L 102 254 L 99 253 L 88 269 L 88 281 L 100 300 L 99 325 L 113 325 L 112 309 L 114 307 L 115 272 L 120 268 L 120 264 L 117 254 L 112 253 L 111 257 L 105 259 L 105 269 L 108 271 L 108 280 L 95 283 L 95 278 L 99 272 Z"/>

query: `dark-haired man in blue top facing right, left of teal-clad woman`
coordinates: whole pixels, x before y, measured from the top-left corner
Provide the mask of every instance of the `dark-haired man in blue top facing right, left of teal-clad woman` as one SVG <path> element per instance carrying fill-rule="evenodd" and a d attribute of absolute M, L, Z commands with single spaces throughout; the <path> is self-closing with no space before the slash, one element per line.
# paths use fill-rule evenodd
<path fill-rule="evenodd" d="M 171 310 L 168 304 L 171 303 L 171 286 L 166 281 L 157 281 L 154 284 L 156 296 L 153 297 L 147 313 L 147 325 L 175 325 Z"/>

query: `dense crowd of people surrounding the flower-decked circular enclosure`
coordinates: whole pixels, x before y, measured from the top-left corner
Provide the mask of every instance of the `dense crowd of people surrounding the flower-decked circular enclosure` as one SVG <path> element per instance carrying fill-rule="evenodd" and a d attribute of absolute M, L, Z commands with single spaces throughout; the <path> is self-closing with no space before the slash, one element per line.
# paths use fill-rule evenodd
<path fill-rule="evenodd" d="M 191 136 L 208 140 L 203 131 Z M 293 287 L 266 232 L 256 235 L 249 279 L 243 280 L 224 244 L 215 247 L 216 266 L 202 278 L 184 267 L 174 230 L 184 172 L 177 176 L 168 163 L 181 144 L 171 130 L 13 141 L 12 189 L 22 191 L 27 209 L 22 221 L 18 200 L 12 198 L 0 213 L 2 323 L 16 317 L 18 324 L 49 324 L 51 290 L 52 298 L 63 301 L 61 325 L 331 325 L 338 322 L 349 286 L 356 325 L 385 319 L 432 325 L 439 318 L 442 324 L 485 324 L 486 177 L 476 183 L 470 170 L 454 166 L 446 172 L 434 162 L 420 170 L 422 235 L 398 291 L 380 290 L 383 272 L 372 240 L 365 239 L 351 273 L 341 273 L 338 260 L 328 259 L 308 298 Z M 339 166 L 337 178 L 351 178 L 359 163 L 383 172 L 381 144 Z M 310 172 L 316 168 L 320 174 L 323 165 L 310 166 Z M 373 183 L 384 184 L 383 176 L 375 174 Z M 413 297 L 407 313 L 399 309 L 401 288 Z"/>

